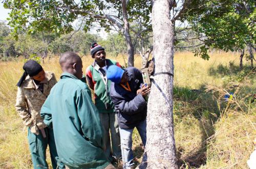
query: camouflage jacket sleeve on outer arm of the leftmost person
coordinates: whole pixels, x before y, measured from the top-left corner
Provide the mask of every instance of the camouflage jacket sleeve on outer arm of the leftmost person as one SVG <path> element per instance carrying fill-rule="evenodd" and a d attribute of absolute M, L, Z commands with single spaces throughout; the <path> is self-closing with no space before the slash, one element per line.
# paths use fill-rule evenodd
<path fill-rule="evenodd" d="M 27 108 L 27 101 L 26 101 L 26 97 L 23 92 L 23 89 L 20 87 L 18 88 L 18 91 L 17 91 L 15 108 L 16 108 L 19 116 L 22 118 L 23 124 L 28 127 L 32 126 L 33 119 L 31 118 L 31 116 L 29 114 L 29 111 Z"/>

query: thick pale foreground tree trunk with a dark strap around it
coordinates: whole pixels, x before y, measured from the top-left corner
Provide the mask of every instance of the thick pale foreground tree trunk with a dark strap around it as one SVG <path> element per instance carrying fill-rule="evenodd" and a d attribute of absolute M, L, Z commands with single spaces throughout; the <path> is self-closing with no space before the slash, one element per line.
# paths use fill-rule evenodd
<path fill-rule="evenodd" d="M 178 168 L 173 121 L 173 1 L 155 0 L 152 9 L 155 73 L 147 107 L 147 140 L 140 168 Z"/>

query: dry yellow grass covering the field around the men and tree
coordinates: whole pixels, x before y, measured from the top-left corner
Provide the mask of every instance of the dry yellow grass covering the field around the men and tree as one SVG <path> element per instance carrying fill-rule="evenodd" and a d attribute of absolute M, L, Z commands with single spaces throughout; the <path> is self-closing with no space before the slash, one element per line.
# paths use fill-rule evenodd
<path fill-rule="evenodd" d="M 123 55 L 119 55 L 117 58 L 110 59 L 125 65 L 127 60 L 124 58 Z M 93 59 L 84 56 L 82 61 L 85 71 Z M 230 61 L 238 65 L 238 54 L 213 53 L 209 61 L 204 61 L 201 58 L 195 58 L 191 52 L 177 52 L 174 60 L 175 87 L 179 90 L 202 89 L 205 85 L 221 88 L 222 75 L 210 75 L 210 71 L 217 69 L 220 64 L 229 66 Z M 0 62 L 0 168 L 32 168 L 27 128 L 23 126 L 14 108 L 17 90 L 15 85 L 23 73 L 23 64 L 22 59 Z M 141 58 L 137 56 L 135 66 L 140 68 L 140 65 Z M 57 57 L 50 62 L 46 60 L 42 66 L 45 70 L 54 72 L 57 79 L 60 77 L 61 70 Z M 241 91 L 255 92 L 255 81 L 248 85 L 250 88 L 247 91 Z M 240 100 L 243 102 L 242 99 Z M 175 100 L 175 137 L 182 167 L 200 167 L 201 165 L 202 168 L 246 168 L 246 159 L 252 151 L 251 141 L 256 136 L 255 103 L 246 104 L 245 111 L 229 108 L 229 111 L 214 122 L 209 116 L 215 114 L 215 111 L 203 107 L 206 104 L 209 107 L 217 106 L 210 101 L 212 98 L 196 99 L 191 102 Z M 215 108 L 218 109 L 218 106 Z M 136 151 L 135 156 L 139 158 L 138 161 L 141 160 L 142 153 L 140 142 L 138 133 L 135 132 L 133 146 Z M 49 154 L 47 160 L 50 164 Z"/>

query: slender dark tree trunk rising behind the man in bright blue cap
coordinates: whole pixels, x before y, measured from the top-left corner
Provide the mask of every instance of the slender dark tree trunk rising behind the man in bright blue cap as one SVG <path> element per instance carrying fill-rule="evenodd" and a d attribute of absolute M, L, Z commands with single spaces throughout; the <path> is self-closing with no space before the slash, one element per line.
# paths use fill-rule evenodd
<path fill-rule="evenodd" d="M 134 46 L 133 46 L 132 38 L 130 35 L 130 31 L 129 31 L 130 25 L 129 25 L 128 16 L 127 16 L 125 0 L 122 0 L 122 11 L 123 11 L 123 22 L 124 22 L 123 34 L 127 44 L 128 67 L 130 67 L 130 66 L 134 66 Z"/>

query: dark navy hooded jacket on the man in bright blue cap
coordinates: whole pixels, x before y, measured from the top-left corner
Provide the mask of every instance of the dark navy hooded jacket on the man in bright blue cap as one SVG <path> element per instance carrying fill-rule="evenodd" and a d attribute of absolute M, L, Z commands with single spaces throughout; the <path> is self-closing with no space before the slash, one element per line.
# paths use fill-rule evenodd
<path fill-rule="evenodd" d="M 140 70 L 135 67 L 125 69 L 129 77 L 131 92 L 125 90 L 119 83 L 112 82 L 110 97 L 115 105 L 118 125 L 123 129 L 134 128 L 138 123 L 146 119 L 147 103 L 137 90 L 143 83 Z"/>

